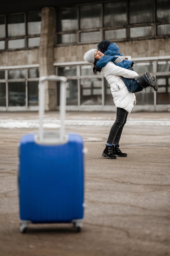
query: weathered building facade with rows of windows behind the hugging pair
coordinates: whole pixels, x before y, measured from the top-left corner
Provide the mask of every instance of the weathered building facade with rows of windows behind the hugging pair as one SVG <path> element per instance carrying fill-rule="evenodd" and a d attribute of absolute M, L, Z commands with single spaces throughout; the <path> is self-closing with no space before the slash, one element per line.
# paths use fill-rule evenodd
<path fill-rule="evenodd" d="M 136 93 L 135 111 L 170 111 L 170 1 L 113 0 L 0 15 L 0 110 L 38 110 L 38 79 L 66 76 L 67 110 L 114 111 L 110 86 L 84 53 L 101 40 L 117 43 L 134 70 L 157 78 Z M 60 104 L 46 82 L 45 110 Z"/>

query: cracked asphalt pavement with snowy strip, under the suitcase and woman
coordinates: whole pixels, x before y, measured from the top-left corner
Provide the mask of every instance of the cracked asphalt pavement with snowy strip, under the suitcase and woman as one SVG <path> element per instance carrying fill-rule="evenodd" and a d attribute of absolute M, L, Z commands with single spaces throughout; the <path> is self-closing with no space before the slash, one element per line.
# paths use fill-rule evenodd
<path fill-rule="evenodd" d="M 38 131 L 38 112 L 0 112 L 0 256 L 170 256 L 170 112 L 132 112 L 120 149 L 102 157 L 116 113 L 66 112 L 66 132 L 84 139 L 85 211 L 70 223 L 29 225 L 20 233 L 18 144 Z M 46 112 L 44 129 L 58 129 Z"/>

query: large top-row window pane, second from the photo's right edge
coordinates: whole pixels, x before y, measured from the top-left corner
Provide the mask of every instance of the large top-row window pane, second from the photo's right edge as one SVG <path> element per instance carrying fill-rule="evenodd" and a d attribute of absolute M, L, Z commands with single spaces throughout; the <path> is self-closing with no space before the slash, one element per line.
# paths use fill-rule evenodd
<path fill-rule="evenodd" d="M 153 21 L 153 0 L 130 0 L 130 24 Z"/>

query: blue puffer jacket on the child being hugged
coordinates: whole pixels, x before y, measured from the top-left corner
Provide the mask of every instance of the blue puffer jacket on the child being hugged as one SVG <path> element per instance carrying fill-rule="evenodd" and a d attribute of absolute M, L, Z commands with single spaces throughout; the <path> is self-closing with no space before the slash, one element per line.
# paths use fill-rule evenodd
<path fill-rule="evenodd" d="M 111 43 L 108 46 L 107 51 L 104 52 L 104 54 L 105 55 L 102 58 L 100 58 L 96 63 L 97 67 L 99 67 L 99 68 L 102 68 L 102 67 L 106 66 L 106 64 L 109 61 L 112 61 L 115 65 L 117 65 L 119 67 L 124 67 L 124 68 L 128 68 L 132 64 L 132 61 L 129 61 L 129 60 L 124 60 L 124 61 L 121 61 L 117 64 L 115 63 L 115 60 L 117 58 L 117 57 L 115 57 L 115 55 L 123 56 L 123 54 L 119 53 L 119 47 L 115 43 Z"/>

